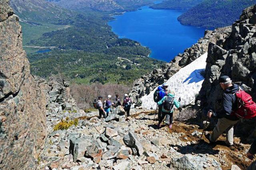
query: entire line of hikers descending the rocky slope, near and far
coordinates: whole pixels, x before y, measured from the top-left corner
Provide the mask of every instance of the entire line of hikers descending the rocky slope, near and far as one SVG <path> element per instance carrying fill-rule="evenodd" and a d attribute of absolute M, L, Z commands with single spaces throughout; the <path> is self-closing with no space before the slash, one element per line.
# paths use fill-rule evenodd
<path fill-rule="evenodd" d="M 222 109 L 221 111 L 214 112 L 209 110 L 207 113 L 208 119 L 212 117 L 218 118 L 218 123 L 214 127 L 212 134 L 207 134 L 206 138 L 210 143 L 216 142 L 218 137 L 226 132 L 226 145 L 231 149 L 235 150 L 234 147 L 234 125 L 238 123 L 241 119 L 251 119 L 256 116 L 256 104 L 252 101 L 252 97 L 246 93 L 242 87 L 232 83 L 230 77 L 223 75 L 218 79 L 220 87 L 223 89 L 224 93 L 222 96 Z M 100 113 L 100 118 L 105 118 L 108 116 L 111 108 L 110 106 L 117 107 L 122 105 L 124 110 L 127 113 L 127 117 L 130 116 L 130 108 L 132 106 L 132 100 L 128 97 L 127 94 L 124 95 L 124 101 L 121 103 L 120 98 L 116 95 L 114 103 L 110 101 L 111 96 L 108 96 L 106 99 L 105 107 L 102 104 L 102 96 L 98 97 L 98 109 Z M 140 107 L 142 101 L 136 96 L 137 102 L 135 107 Z M 180 101 L 175 99 L 174 92 L 171 89 L 168 89 L 168 85 L 163 83 L 158 86 L 157 90 L 154 92 L 154 101 L 158 105 L 158 125 L 164 120 L 164 123 L 169 124 L 169 128 L 172 128 L 173 125 L 173 111 L 174 106 L 176 108 L 180 107 Z M 256 139 L 252 143 L 249 151 L 246 153 L 246 156 L 250 159 L 254 159 L 254 154 L 256 154 Z M 256 170 L 256 161 L 254 161 L 247 170 Z"/>

